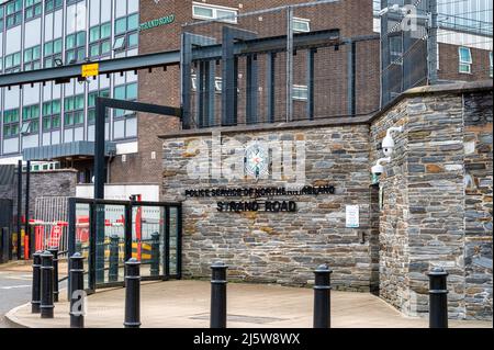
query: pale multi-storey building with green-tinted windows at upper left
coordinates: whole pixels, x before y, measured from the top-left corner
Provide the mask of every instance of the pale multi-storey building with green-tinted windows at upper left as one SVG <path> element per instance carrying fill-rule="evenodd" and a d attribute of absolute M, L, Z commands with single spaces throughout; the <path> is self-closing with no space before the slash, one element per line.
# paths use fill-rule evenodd
<path fill-rule="evenodd" d="M 138 26 L 138 0 L 2 1 L 0 72 L 136 55 Z M 1 89 L 2 162 L 15 160 L 26 148 L 91 142 L 97 95 L 135 100 L 137 76 L 130 72 Z M 122 143 L 136 137 L 135 114 L 109 113 L 109 140 Z M 89 173 L 82 171 L 79 181 L 87 182 Z"/>

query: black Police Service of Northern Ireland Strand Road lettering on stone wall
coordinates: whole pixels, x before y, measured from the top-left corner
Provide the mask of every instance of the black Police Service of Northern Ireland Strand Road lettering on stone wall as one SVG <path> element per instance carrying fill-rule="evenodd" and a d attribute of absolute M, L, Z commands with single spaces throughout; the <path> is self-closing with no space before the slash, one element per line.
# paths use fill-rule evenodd
<path fill-rule="evenodd" d="M 294 196 L 294 195 L 318 195 L 335 194 L 335 187 L 311 187 L 306 185 L 296 191 L 285 188 L 235 188 L 235 189 L 199 189 L 186 190 L 187 197 L 233 197 L 249 196 L 254 199 L 272 196 Z M 295 213 L 296 203 L 294 201 L 222 201 L 217 202 L 216 210 L 225 212 L 270 212 L 270 213 Z"/>

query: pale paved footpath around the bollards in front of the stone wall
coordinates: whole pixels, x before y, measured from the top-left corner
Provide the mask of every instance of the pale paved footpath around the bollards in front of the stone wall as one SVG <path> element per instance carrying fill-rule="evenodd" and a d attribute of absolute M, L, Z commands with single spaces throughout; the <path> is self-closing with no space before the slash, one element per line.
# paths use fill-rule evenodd
<path fill-rule="evenodd" d="M 207 328 L 210 283 L 205 281 L 143 282 L 142 327 Z M 65 295 L 63 293 L 61 295 Z M 110 289 L 88 297 L 87 327 L 121 328 L 124 289 Z M 427 328 L 426 318 L 411 318 L 367 293 L 333 292 L 332 321 L 336 328 Z M 228 327 L 310 328 L 313 291 L 266 284 L 228 284 Z M 7 316 L 23 327 L 69 326 L 68 303 L 56 304 L 54 319 L 41 319 L 26 304 Z M 450 321 L 450 327 L 492 328 L 490 321 Z"/>

